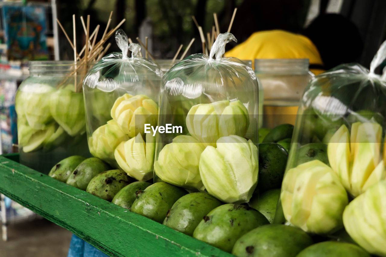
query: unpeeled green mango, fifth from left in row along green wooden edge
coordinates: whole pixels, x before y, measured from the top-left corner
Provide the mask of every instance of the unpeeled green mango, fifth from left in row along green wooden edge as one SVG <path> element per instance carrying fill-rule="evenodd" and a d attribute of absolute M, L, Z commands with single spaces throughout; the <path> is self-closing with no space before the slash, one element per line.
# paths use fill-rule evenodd
<path fill-rule="evenodd" d="M 157 182 L 137 193 L 131 211 L 161 223 L 173 204 L 187 192 L 165 182 Z"/>

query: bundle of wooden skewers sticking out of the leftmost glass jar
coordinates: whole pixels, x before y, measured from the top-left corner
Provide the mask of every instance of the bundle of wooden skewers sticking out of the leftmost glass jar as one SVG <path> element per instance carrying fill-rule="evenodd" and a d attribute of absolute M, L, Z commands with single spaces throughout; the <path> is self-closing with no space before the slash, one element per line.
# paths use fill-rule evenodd
<path fill-rule="evenodd" d="M 97 42 L 97 36 L 100 29 L 100 25 L 97 25 L 97 27 L 93 30 L 92 34 L 90 35 L 90 15 L 87 15 L 87 22 L 85 23 L 83 17 L 80 17 L 83 30 L 85 32 L 86 36 L 86 43 L 85 46 L 81 49 L 81 51 L 78 53 L 76 49 L 76 28 L 75 28 L 75 15 L 73 15 L 73 41 L 69 38 L 68 34 L 64 30 L 62 24 L 58 19 L 56 19 L 56 22 L 58 22 L 59 27 L 63 31 L 64 36 L 66 37 L 67 41 L 69 42 L 70 46 L 72 47 L 74 51 L 74 71 L 71 72 L 59 85 L 58 88 L 64 85 L 68 79 L 72 78 L 74 76 L 74 87 L 75 92 L 80 92 L 82 90 L 81 82 L 83 79 L 80 79 L 78 81 L 78 72 L 82 73 L 82 76 L 85 76 L 88 68 L 92 63 L 95 63 L 99 61 L 107 52 L 108 48 L 111 46 L 111 44 L 107 44 L 106 47 L 103 47 L 103 44 L 114 34 L 115 30 L 117 30 L 124 22 L 125 19 L 121 20 L 117 26 L 115 26 L 113 29 L 109 30 L 110 23 L 111 23 L 111 17 L 113 12 L 110 12 L 110 17 L 108 18 L 106 28 L 103 32 L 102 39 Z"/>

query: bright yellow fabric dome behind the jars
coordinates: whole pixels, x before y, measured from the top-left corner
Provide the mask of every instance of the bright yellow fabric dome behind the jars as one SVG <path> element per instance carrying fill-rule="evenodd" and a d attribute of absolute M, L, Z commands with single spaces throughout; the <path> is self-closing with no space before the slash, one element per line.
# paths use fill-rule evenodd
<path fill-rule="evenodd" d="M 225 56 L 252 60 L 252 63 L 254 59 L 306 58 L 310 64 L 323 64 L 318 49 L 310 39 L 283 30 L 255 32 L 245 42 L 226 52 Z M 323 72 L 321 69 L 311 71 L 315 75 Z"/>

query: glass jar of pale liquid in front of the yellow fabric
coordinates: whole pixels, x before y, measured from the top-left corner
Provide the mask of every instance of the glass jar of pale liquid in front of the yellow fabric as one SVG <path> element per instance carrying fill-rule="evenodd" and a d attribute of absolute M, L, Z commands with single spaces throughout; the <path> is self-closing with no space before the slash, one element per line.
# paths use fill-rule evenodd
<path fill-rule="evenodd" d="M 295 124 L 299 100 L 313 74 L 308 59 L 255 59 L 264 91 L 262 126 Z"/>

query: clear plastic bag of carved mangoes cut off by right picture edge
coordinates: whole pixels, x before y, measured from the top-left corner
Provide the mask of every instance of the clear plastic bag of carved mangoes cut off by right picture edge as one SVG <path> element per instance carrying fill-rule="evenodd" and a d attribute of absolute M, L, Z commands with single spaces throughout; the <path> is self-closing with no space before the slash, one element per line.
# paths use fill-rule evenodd
<path fill-rule="evenodd" d="M 374 72 L 385 57 L 386 42 L 370 70 L 344 64 L 310 81 L 301 99 L 280 198 L 292 225 L 317 234 L 344 225 L 359 245 L 378 254 L 374 248 L 385 249 L 386 244 L 386 195 L 374 193 L 372 198 L 382 202 L 383 214 L 366 216 L 369 213 L 359 209 L 343 213 L 352 198 L 386 178 L 386 81 Z M 378 226 L 372 227 L 374 223 Z"/>

